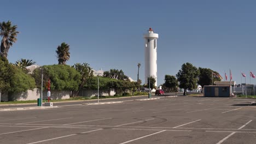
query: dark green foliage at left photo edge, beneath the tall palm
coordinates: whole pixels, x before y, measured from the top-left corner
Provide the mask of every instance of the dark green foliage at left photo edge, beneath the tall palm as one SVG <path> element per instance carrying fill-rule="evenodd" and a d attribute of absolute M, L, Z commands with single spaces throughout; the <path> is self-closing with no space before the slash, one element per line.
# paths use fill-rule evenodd
<path fill-rule="evenodd" d="M 14 74 L 14 66 L 9 64 L 7 58 L 0 57 L 0 92 L 8 91 Z"/>

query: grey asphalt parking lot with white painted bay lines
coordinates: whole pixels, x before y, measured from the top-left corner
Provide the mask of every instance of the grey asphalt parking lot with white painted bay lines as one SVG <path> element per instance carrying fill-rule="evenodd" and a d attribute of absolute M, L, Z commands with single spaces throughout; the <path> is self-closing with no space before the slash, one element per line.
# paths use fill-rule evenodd
<path fill-rule="evenodd" d="M 256 143 L 252 99 L 161 97 L 0 112 L 0 143 Z"/>

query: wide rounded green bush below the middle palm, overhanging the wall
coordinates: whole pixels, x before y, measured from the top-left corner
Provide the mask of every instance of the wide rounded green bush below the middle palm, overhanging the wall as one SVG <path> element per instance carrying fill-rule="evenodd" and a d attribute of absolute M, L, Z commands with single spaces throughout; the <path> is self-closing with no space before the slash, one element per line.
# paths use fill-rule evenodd
<path fill-rule="evenodd" d="M 81 75 L 69 65 L 44 65 L 43 69 L 43 87 L 50 79 L 51 89 L 77 91 L 80 83 Z M 36 69 L 33 74 L 36 85 L 41 88 L 42 70 Z"/>

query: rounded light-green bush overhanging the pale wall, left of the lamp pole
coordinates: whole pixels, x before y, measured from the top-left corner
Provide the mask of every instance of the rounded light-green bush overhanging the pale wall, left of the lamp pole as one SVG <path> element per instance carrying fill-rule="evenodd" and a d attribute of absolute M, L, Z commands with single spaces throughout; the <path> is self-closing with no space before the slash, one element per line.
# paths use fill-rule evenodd
<path fill-rule="evenodd" d="M 26 92 L 28 89 L 36 88 L 33 77 L 24 73 L 21 69 L 15 68 L 15 74 L 10 81 L 9 93 Z"/>

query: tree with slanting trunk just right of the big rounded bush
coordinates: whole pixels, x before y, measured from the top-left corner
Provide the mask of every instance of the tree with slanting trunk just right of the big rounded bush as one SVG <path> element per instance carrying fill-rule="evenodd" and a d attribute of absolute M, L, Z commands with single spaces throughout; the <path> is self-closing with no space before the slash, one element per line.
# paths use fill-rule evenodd
<path fill-rule="evenodd" d="M 81 82 L 79 84 L 78 91 L 72 92 L 72 95 L 71 95 L 72 97 L 76 97 L 79 91 L 81 91 L 84 88 L 85 84 L 89 82 L 89 80 L 94 76 L 94 73 L 91 67 L 89 67 L 88 63 L 83 63 L 83 64 L 76 63 L 73 65 L 73 68 L 77 70 L 78 73 L 80 73 L 81 75 L 81 78 L 80 78 Z"/>

